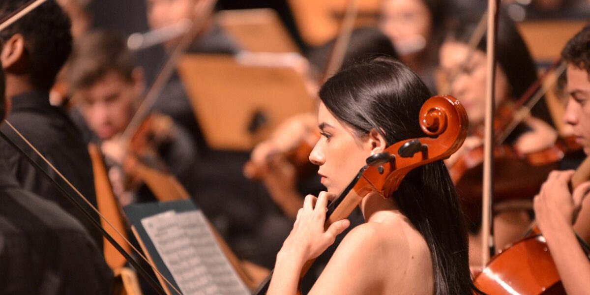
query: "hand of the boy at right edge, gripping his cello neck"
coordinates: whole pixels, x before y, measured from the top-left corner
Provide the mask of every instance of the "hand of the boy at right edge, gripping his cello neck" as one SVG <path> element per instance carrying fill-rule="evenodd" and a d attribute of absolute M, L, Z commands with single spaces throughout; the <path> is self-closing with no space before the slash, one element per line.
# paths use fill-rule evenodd
<path fill-rule="evenodd" d="M 569 182 L 572 175 L 573 170 L 551 172 L 535 196 L 536 221 L 543 234 L 563 230 L 564 226 L 571 227 L 578 217 L 582 201 L 590 192 L 590 182 L 582 183 L 571 194 Z"/>

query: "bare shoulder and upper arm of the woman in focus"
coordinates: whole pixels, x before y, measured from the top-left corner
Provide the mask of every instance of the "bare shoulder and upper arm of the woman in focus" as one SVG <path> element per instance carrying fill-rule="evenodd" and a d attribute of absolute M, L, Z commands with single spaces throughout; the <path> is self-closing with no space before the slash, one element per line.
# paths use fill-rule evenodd
<path fill-rule="evenodd" d="M 340 242 L 313 291 L 383 294 L 392 286 L 404 286 L 409 267 L 416 262 L 414 238 L 404 234 L 404 227 L 402 221 L 393 221 L 367 222 L 353 228 Z M 342 277 L 347 280 L 342 282 Z"/>

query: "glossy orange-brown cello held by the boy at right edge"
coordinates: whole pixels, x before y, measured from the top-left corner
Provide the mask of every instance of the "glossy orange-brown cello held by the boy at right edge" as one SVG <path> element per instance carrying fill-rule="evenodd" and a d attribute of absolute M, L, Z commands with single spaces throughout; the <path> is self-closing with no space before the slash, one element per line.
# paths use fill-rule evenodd
<path fill-rule="evenodd" d="M 576 169 L 571 188 L 588 179 L 590 157 Z M 525 238 L 494 256 L 474 283 L 488 294 L 566 294 L 560 281 L 545 238 L 535 227 Z"/>

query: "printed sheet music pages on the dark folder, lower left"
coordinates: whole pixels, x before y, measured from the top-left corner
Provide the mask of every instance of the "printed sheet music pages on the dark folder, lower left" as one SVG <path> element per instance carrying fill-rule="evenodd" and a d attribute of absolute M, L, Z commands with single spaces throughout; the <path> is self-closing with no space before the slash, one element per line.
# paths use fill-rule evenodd
<path fill-rule="evenodd" d="M 185 295 L 250 294 L 225 259 L 201 211 L 166 211 L 142 225 Z"/>

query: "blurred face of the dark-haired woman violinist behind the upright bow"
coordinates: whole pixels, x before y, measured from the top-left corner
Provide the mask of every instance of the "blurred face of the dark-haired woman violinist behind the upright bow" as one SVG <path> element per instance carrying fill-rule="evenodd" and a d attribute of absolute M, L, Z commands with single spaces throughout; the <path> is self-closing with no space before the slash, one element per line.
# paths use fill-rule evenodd
<path fill-rule="evenodd" d="M 440 67 L 449 85 L 449 94 L 465 106 L 470 124 L 483 122 L 486 113 L 486 54 L 473 51 L 461 42 L 444 42 L 440 49 Z M 496 67 L 496 106 L 509 96 L 510 87 L 506 74 Z M 472 125 L 473 126 L 473 125 Z"/>

